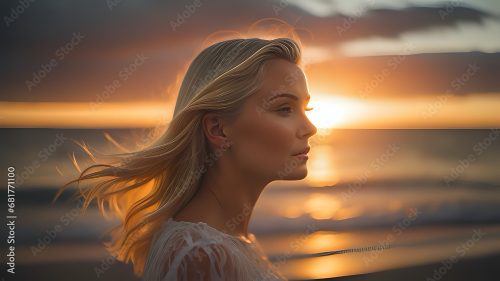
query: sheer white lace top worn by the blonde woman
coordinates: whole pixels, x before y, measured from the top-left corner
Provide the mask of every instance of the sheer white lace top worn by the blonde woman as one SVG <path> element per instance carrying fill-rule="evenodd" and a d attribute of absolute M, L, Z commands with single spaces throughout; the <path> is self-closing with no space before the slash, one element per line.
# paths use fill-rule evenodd
<path fill-rule="evenodd" d="M 272 267 L 255 236 L 248 240 L 205 223 L 164 222 L 153 236 L 143 281 L 287 280 Z"/>

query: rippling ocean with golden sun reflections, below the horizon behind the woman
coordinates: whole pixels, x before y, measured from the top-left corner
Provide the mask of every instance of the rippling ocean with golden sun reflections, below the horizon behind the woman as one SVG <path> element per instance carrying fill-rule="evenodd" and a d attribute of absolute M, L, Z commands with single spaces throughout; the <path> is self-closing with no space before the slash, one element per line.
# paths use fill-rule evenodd
<path fill-rule="evenodd" d="M 77 201 L 66 202 L 70 191 L 50 202 L 79 174 L 70 156 L 80 169 L 93 163 L 72 140 L 106 151 L 112 144 L 103 131 L 132 145 L 130 132 L 140 129 L 0 131 L 3 182 L 8 167 L 19 175 L 15 212 L 7 213 L 16 216 L 16 278 L 138 280 L 99 238 L 116 221 L 104 220 L 95 204 L 82 214 Z M 290 280 L 488 280 L 500 256 L 496 132 L 318 130 L 309 140 L 307 177 L 270 183 L 248 231 Z M 354 251 L 307 257 L 341 250 Z"/>

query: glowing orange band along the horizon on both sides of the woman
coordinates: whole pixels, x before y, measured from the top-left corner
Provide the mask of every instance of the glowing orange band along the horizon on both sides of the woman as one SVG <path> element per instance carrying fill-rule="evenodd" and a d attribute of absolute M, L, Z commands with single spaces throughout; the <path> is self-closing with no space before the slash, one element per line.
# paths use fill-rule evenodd
<path fill-rule="evenodd" d="M 365 99 L 311 94 L 306 115 L 317 128 L 424 129 L 491 128 L 500 123 L 500 97 L 493 94 L 451 96 L 432 112 L 435 96 Z M 0 102 L 3 128 L 155 127 L 171 120 L 173 104 L 158 101 Z M 424 117 L 423 112 L 432 114 Z"/>

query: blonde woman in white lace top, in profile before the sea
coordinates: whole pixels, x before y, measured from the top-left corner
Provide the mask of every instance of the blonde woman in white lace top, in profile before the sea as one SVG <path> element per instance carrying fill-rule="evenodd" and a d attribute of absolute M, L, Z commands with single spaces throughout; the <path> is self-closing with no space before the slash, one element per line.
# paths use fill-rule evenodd
<path fill-rule="evenodd" d="M 107 202 L 122 217 L 108 250 L 130 259 L 137 276 L 285 279 L 247 225 L 268 183 L 307 174 L 316 128 L 305 115 L 309 95 L 299 61 L 287 38 L 205 48 L 187 69 L 163 135 L 128 163 L 94 165 L 67 184 L 111 177 L 81 193 L 86 206 L 95 197 L 104 215 Z M 86 174 L 90 168 L 101 169 Z"/>

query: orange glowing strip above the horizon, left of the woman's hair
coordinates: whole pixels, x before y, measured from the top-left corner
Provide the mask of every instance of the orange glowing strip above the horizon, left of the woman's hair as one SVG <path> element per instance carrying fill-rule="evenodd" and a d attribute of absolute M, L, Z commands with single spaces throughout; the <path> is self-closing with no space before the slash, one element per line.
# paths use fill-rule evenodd
<path fill-rule="evenodd" d="M 92 110 L 88 102 L 0 102 L 4 128 L 133 128 L 169 122 L 173 107 L 157 101 L 104 102 Z"/>

